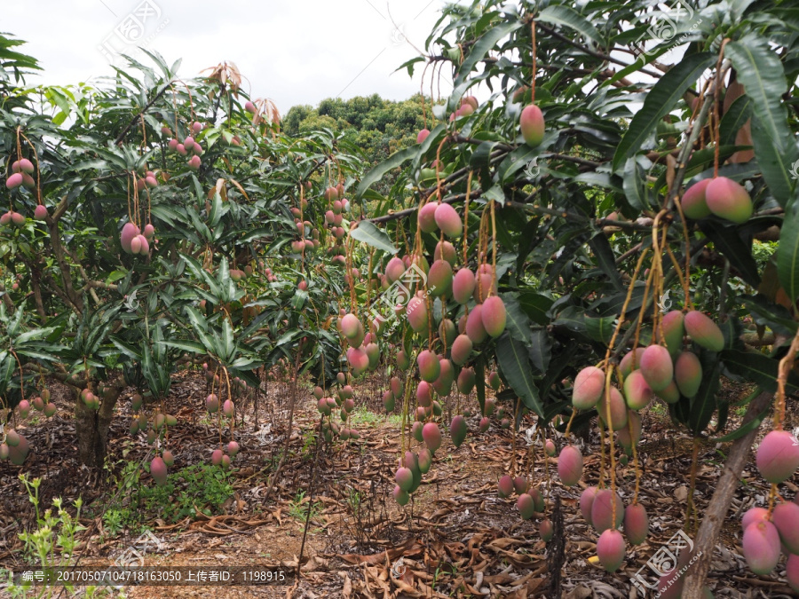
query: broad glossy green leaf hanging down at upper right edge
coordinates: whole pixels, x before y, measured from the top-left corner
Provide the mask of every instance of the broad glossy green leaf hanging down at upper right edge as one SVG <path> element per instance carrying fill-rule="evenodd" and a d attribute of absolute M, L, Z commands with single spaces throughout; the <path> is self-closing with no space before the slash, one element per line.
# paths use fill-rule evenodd
<path fill-rule="evenodd" d="M 758 33 L 742 37 L 724 47 L 738 80 L 752 99 L 752 139 L 757 163 L 771 194 L 783 208 L 794 196 L 791 168 L 799 160 L 799 149 L 787 122 L 785 69 L 768 37 Z M 780 244 L 781 245 L 781 244 Z"/>

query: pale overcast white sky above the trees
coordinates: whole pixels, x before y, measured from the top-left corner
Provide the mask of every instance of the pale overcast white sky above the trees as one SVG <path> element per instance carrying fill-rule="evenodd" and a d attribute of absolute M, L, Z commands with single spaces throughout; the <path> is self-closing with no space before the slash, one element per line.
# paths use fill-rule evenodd
<path fill-rule="evenodd" d="M 407 41 L 423 49 L 444 2 L 35 0 L 4 3 L 0 31 L 28 42 L 19 50 L 44 68 L 43 75 L 28 77 L 28 84 L 75 84 L 113 75 L 111 59 L 123 66 L 113 50 L 130 53 L 136 44 L 125 46 L 115 28 L 131 13 L 142 22 L 144 12 L 143 38 L 152 37 L 149 47 L 170 65 L 183 59 L 179 75 L 191 78 L 233 61 L 249 80 L 252 97 L 271 98 L 286 114 L 291 106 L 315 106 L 339 95 L 407 99 L 419 91 L 423 63 L 413 80 L 405 69 L 393 71 L 416 54 Z M 100 50 L 104 43 L 111 59 Z M 449 91 L 442 81 L 441 94 Z"/>

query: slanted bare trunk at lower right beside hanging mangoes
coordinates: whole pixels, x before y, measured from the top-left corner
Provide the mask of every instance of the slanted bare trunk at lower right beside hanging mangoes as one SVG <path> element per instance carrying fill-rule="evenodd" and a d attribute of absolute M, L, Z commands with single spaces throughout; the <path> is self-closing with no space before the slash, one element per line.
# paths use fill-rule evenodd
<path fill-rule="evenodd" d="M 763 391 L 753 399 L 742 423 L 746 424 L 752 421 L 757 414 L 763 412 L 766 406 L 771 403 L 773 397 L 772 393 Z M 755 436 L 759 429 L 760 426 L 758 425 L 746 435 L 737 439 L 732 444 L 727 460 L 724 461 L 724 471 L 716 484 L 716 492 L 713 493 L 713 499 L 710 500 L 707 511 L 702 515 L 702 524 L 696 535 L 694 553 L 700 557 L 688 571 L 683 589 L 683 599 L 700 599 L 702 596 L 702 586 L 708 576 L 710 560 L 713 557 L 713 550 L 716 548 L 718 533 L 726 520 L 727 511 L 732 502 L 732 495 L 738 485 L 740 485 L 741 470 L 747 463 L 749 448 L 755 441 Z"/>

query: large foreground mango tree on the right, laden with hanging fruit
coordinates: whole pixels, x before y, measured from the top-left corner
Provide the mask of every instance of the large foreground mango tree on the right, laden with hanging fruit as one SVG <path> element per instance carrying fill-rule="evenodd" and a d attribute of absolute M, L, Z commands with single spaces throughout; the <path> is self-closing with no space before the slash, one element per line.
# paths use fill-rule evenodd
<path fill-rule="evenodd" d="M 713 517 L 694 552 L 680 556 L 682 566 L 701 555 L 683 595 L 691 597 L 700 596 L 740 456 L 771 406 L 774 431 L 758 452 L 771 498 L 744 533 L 755 572 L 773 570 L 780 540 L 793 551 L 789 518 L 774 505 L 777 485 L 799 467 L 799 445 L 782 430 L 799 344 L 795 14 L 777 2 L 700 4 L 444 9 L 426 56 L 403 67 L 424 63 L 425 82 L 451 76 L 454 90 L 426 106 L 418 144 L 358 187 L 377 208 L 351 234 L 375 248 L 371 288 L 384 292 L 363 290 L 355 320 L 341 321 L 356 369 L 364 326 L 399 343 L 398 372 L 418 366 L 385 396 L 404 415 L 400 504 L 430 468 L 443 412 L 455 414 L 453 442 L 463 442 L 471 406 L 452 395 L 454 380 L 464 395 L 476 390 L 481 430 L 497 408 L 504 427 L 526 412 L 540 431 L 559 422 L 566 486 L 583 476 L 572 433 L 598 417 L 601 468 L 581 509 L 607 571 L 620 568 L 628 542 L 647 537 L 638 485 L 626 508 L 616 493 L 620 462 L 641 476 L 641 409 L 665 403 L 694 438 L 692 483 L 702 439 L 740 439 Z M 391 192 L 377 193 L 394 169 Z M 776 252 L 761 243 L 778 239 Z M 722 374 L 758 388 L 732 431 Z M 413 436 L 424 443 L 418 452 Z M 556 453 L 553 439 L 541 437 L 538 451 L 539 460 Z M 530 518 L 548 509 L 525 474 L 510 464 L 499 493 L 517 493 Z M 688 497 L 691 530 L 700 518 Z M 787 568 L 799 587 L 799 557 Z M 671 585 L 673 574 L 646 584 L 678 596 L 687 577 Z"/>

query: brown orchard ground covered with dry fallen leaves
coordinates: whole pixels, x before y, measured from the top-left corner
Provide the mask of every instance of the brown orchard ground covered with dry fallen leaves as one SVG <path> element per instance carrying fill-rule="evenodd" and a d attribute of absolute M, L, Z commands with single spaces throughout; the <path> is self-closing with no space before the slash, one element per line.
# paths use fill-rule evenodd
<path fill-rule="evenodd" d="M 176 462 L 170 469 L 170 481 L 183 478 L 184 482 L 174 487 L 169 500 L 161 502 L 157 497 L 149 499 L 154 496 L 146 490 L 155 485 L 146 473 L 141 475 L 140 490 L 133 487 L 120 491 L 124 476 L 131 473 L 131 469 L 123 471 L 123 464 L 127 461 L 138 468 L 140 462 L 149 461 L 152 453 L 143 434 L 131 437 L 127 430 L 129 402 L 118 405 L 109 438 L 106 478 L 97 480 L 87 477 L 75 458 L 67 390 L 58 382 L 51 382 L 58 413 L 44 419 L 34 412 L 18 427 L 33 447 L 23 469 L 29 478 L 42 479 L 43 507 L 50 506 L 55 497 L 70 505 L 78 496 L 83 497 L 81 523 L 87 530 L 79 533 L 75 551 L 82 565 L 110 564 L 140 532 L 150 530 L 162 541 L 162 547 L 149 549 L 144 556 L 146 565 L 296 567 L 305 517 L 311 506 L 302 577 L 297 587 L 127 587 L 129 597 L 550 596 L 548 554 L 552 552 L 539 538 L 540 518 L 523 521 L 515 498 L 502 500 L 496 493 L 497 479 L 510 472 L 510 430 L 499 430 L 499 420 L 494 417 L 492 430 L 481 434 L 477 431 L 479 416 L 472 415 L 467 419 L 470 433 L 463 445 L 455 449 L 445 436 L 431 475 L 424 477 L 413 501 L 401 508 L 391 495 L 399 454 L 399 416 L 384 414 L 379 390 L 384 389 L 385 379 L 378 371 L 356 388 L 359 407 L 352 416 L 352 426 L 360 430 L 360 440 L 323 443 L 318 454 L 315 431 L 319 414 L 310 384 L 305 382 L 289 438 L 289 454 L 274 481 L 270 477 L 281 461 L 291 390 L 271 384 L 266 397 L 257 403 L 260 429 L 256 426 L 254 400 L 239 407 L 235 436 L 241 453 L 226 481 L 229 486 L 214 487 L 217 490 L 210 490 L 202 499 L 194 495 L 187 501 L 182 489 L 194 476 L 191 467 L 221 472 L 210 465 L 203 466 L 210 449 L 218 445 L 219 431 L 215 417 L 194 407 L 200 405 L 199 398 L 207 392 L 202 373 L 180 372 L 167 408 L 170 414 L 179 416 L 178 425 L 170 428 L 170 446 L 178 448 L 174 450 Z M 751 390 L 747 385 L 725 381 L 722 393 L 732 403 Z M 131 394 L 131 390 L 126 392 Z M 799 424 L 795 414 L 789 412 L 788 418 L 793 419 L 786 423 L 792 428 Z M 731 427 L 738 425 L 740 414 L 732 414 L 731 420 Z M 265 426 L 265 422 L 271 426 Z M 518 474 L 531 471 L 525 430 L 532 422 L 531 418 L 522 423 L 516 440 Z M 643 470 L 639 500 L 650 515 L 651 535 L 643 545 L 627 553 L 621 571 L 608 574 L 596 563 L 596 557 L 591 559 L 596 556 L 596 537 L 578 507 L 583 485 L 597 483 L 596 430 L 583 439 L 589 441 L 584 450 L 589 474 L 581 485 L 559 491 L 566 524 L 563 591 L 569 599 L 629 596 L 630 577 L 684 522 L 692 439 L 671 431 L 663 404 L 645 409 L 644 426 L 645 436 L 638 447 Z M 556 437 L 556 445 L 558 449 L 563 445 L 562 437 Z M 699 514 L 713 493 L 727 446 L 700 446 L 695 493 Z M 545 467 L 539 450 L 530 480 L 541 484 L 542 492 L 547 485 L 559 486 L 556 466 L 557 459 L 550 458 Z M 18 479 L 23 469 L 9 461 L 0 462 L 0 485 L 10 490 L 0 497 L 0 567 L 17 570 L 25 566 L 17 535 L 36 525 L 36 514 Z M 634 485 L 634 471 L 630 466 L 620 472 L 620 483 L 626 492 Z M 203 476 L 208 478 L 201 478 L 199 485 L 208 490 L 212 474 Z M 768 486 L 754 468 L 754 458 L 744 471 L 743 483 L 733 500 L 734 516 L 725 523 L 716 547 L 709 586 L 716 596 L 723 597 L 792 596 L 777 577 L 757 579 L 740 555 L 740 515 L 768 495 Z M 791 481 L 787 488 L 797 491 Z M 622 497 L 629 499 L 626 494 Z M 198 504 L 202 500 L 207 502 Z M 175 506 L 191 509 L 191 505 L 205 510 L 207 515 L 175 513 Z M 695 528 L 689 526 L 687 532 L 691 535 Z"/>

